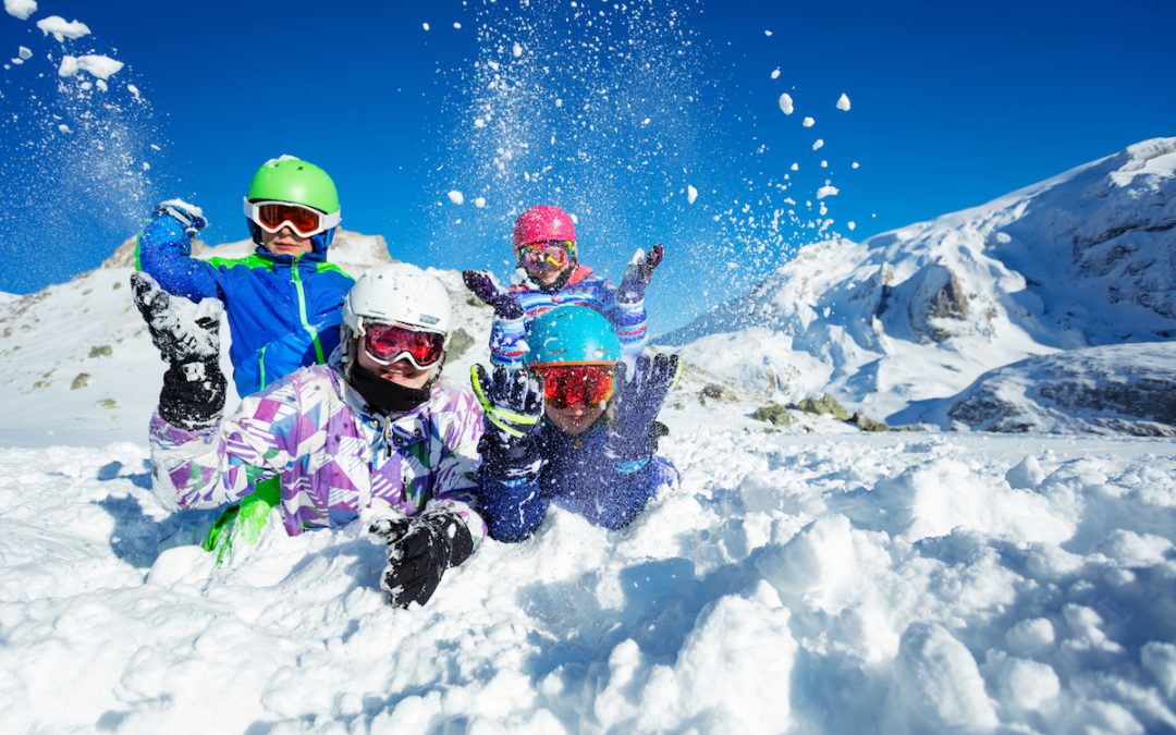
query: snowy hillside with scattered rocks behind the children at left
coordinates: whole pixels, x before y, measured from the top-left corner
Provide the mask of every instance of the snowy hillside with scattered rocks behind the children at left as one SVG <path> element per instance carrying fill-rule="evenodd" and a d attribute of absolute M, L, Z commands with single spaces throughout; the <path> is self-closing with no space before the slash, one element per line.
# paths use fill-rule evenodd
<path fill-rule="evenodd" d="M 254 249 L 249 240 L 215 247 L 193 245 L 198 258 L 239 258 Z M 352 275 L 393 262 L 379 235 L 341 230 L 330 260 Z M 26 296 L 0 298 L 0 405 L 20 421 L 0 427 L 0 443 L 103 446 L 146 439 L 147 420 L 159 397 L 163 362 L 131 300 L 134 239 L 123 242 L 99 268 L 67 283 Z M 461 274 L 441 279 L 454 307 L 446 372 L 465 380 L 469 363 L 487 360 L 490 309 L 469 296 Z M 228 329 L 221 329 L 228 340 Z M 230 374 L 227 349 L 222 368 Z M 233 387 L 229 381 L 229 392 Z M 229 395 L 229 407 L 235 395 Z"/>

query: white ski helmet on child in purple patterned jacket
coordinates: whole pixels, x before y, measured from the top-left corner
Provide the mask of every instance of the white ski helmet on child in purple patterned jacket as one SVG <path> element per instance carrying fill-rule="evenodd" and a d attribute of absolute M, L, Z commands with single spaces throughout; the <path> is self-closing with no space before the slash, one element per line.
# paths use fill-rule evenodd
<path fill-rule="evenodd" d="M 361 321 L 400 323 L 448 339 L 449 293 L 436 278 L 408 263 L 380 266 L 355 280 L 343 301 L 343 325 L 360 334 Z"/>

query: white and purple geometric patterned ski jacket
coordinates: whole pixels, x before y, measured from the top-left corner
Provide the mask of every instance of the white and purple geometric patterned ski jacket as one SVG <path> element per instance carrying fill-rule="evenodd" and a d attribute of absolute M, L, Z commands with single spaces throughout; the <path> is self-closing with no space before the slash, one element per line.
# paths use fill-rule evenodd
<path fill-rule="evenodd" d="M 365 412 L 340 369 L 335 359 L 295 370 L 246 397 L 219 428 L 186 430 L 153 415 L 160 502 L 215 508 L 276 474 L 290 535 L 348 523 L 382 500 L 405 515 L 450 507 L 466 520 L 476 548 L 486 535 L 476 510 L 477 400 L 437 383 L 426 403 L 389 421 Z"/>

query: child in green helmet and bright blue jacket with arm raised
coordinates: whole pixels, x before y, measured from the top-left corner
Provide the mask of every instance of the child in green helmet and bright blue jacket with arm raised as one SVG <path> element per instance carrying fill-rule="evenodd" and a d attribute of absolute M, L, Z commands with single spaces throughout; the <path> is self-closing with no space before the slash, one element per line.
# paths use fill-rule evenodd
<path fill-rule="evenodd" d="M 340 309 L 354 282 L 327 262 L 341 220 L 339 193 L 314 163 L 289 155 L 266 161 L 245 196 L 245 214 L 258 245 L 246 258 L 192 258 L 192 238 L 208 222 L 199 207 L 180 200 L 159 206 L 135 248 L 136 267 L 163 290 L 223 302 L 241 397 L 327 361 L 339 345 Z M 260 485 L 240 508 L 221 515 L 205 547 L 220 559 L 234 535 L 255 540 L 278 492 L 276 481 Z"/>

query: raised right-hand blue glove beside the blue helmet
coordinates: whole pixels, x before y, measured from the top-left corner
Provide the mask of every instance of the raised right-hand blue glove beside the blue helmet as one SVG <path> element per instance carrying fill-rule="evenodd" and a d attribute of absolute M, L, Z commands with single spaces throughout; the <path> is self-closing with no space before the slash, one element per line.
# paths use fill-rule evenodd
<path fill-rule="evenodd" d="M 627 366 L 616 366 L 620 393 L 609 422 L 606 450 L 609 456 L 636 460 L 653 454 L 659 432 L 654 419 L 666 401 L 666 394 L 677 385 L 682 365 L 677 355 L 641 355 L 633 369 L 633 379 L 624 382 Z"/>

